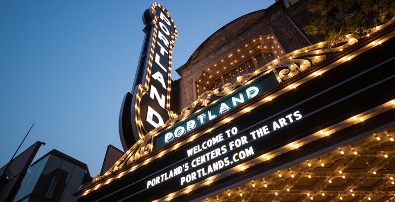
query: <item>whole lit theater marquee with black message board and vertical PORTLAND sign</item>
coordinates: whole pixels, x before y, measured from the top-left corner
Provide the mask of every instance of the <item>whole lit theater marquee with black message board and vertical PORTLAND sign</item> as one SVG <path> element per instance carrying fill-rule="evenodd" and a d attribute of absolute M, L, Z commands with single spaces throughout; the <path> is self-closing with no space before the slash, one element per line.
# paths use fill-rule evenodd
<path fill-rule="evenodd" d="M 255 189 L 261 191 L 265 180 L 284 182 L 286 173 L 294 178 L 293 171 L 309 171 L 305 168 L 313 157 L 324 167 L 330 161 L 321 158 L 332 160 L 332 150 L 341 154 L 350 148 L 358 155 L 352 142 L 394 127 L 395 100 L 387 89 L 395 85 L 390 68 L 395 57 L 387 50 L 393 47 L 395 24 L 370 37 L 349 37 L 331 49 L 320 42 L 288 53 L 232 84 L 202 93 L 176 115 L 169 110 L 174 23 L 156 3 L 145 12 L 144 23 L 134 97 L 127 94 L 121 110 L 121 139 L 129 149 L 75 193 L 78 202 L 241 196 L 246 183 L 255 187 L 260 181 Z M 136 143 L 128 142 L 132 133 L 125 132 L 132 127 L 126 123 L 135 124 Z M 307 164 L 300 167 L 300 162 Z"/>

